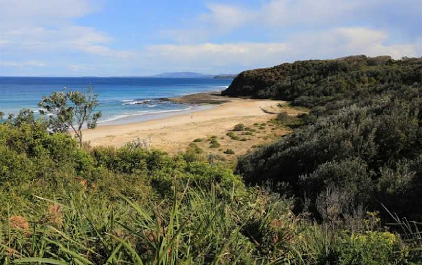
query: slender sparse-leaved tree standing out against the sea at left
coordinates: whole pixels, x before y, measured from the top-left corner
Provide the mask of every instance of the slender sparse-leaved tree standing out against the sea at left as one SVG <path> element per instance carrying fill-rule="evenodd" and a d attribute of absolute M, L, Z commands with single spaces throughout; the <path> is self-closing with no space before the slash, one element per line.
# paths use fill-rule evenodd
<path fill-rule="evenodd" d="M 49 129 L 52 132 L 67 132 L 72 128 L 75 137 L 78 138 L 79 146 L 82 146 L 82 127 L 94 129 L 101 117 L 101 111 L 95 112 L 99 102 L 98 94 L 94 94 L 92 86 L 89 86 L 86 94 L 80 91 L 53 92 L 50 96 L 44 96 L 38 106 L 40 114 L 52 114 L 49 120 Z"/>

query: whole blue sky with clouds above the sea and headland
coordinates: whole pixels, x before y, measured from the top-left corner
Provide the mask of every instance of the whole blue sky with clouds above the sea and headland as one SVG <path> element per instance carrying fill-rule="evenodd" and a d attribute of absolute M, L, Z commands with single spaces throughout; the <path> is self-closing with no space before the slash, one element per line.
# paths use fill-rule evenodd
<path fill-rule="evenodd" d="M 421 0 L 0 0 L 0 76 L 239 73 L 422 56 Z"/>

